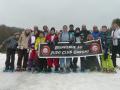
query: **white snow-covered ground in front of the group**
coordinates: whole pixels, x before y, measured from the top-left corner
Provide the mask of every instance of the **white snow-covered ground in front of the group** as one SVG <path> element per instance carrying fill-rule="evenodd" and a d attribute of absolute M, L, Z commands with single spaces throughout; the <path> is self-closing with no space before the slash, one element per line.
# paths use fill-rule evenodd
<path fill-rule="evenodd" d="M 120 61 L 118 64 L 120 65 Z M 69 74 L 4 73 L 5 54 L 0 54 L 0 90 L 120 90 L 120 71 Z"/>

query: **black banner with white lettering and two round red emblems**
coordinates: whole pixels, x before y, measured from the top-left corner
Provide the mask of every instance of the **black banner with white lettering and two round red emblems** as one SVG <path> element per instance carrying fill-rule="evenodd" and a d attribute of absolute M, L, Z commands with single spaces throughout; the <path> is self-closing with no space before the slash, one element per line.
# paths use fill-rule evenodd
<path fill-rule="evenodd" d="M 100 40 L 92 40 L 84 43 L 60 42 L 57 45 L 48 45 L 46 43 L 39 45 L 40 58 L 94 56 L 101 53 Z"/>

